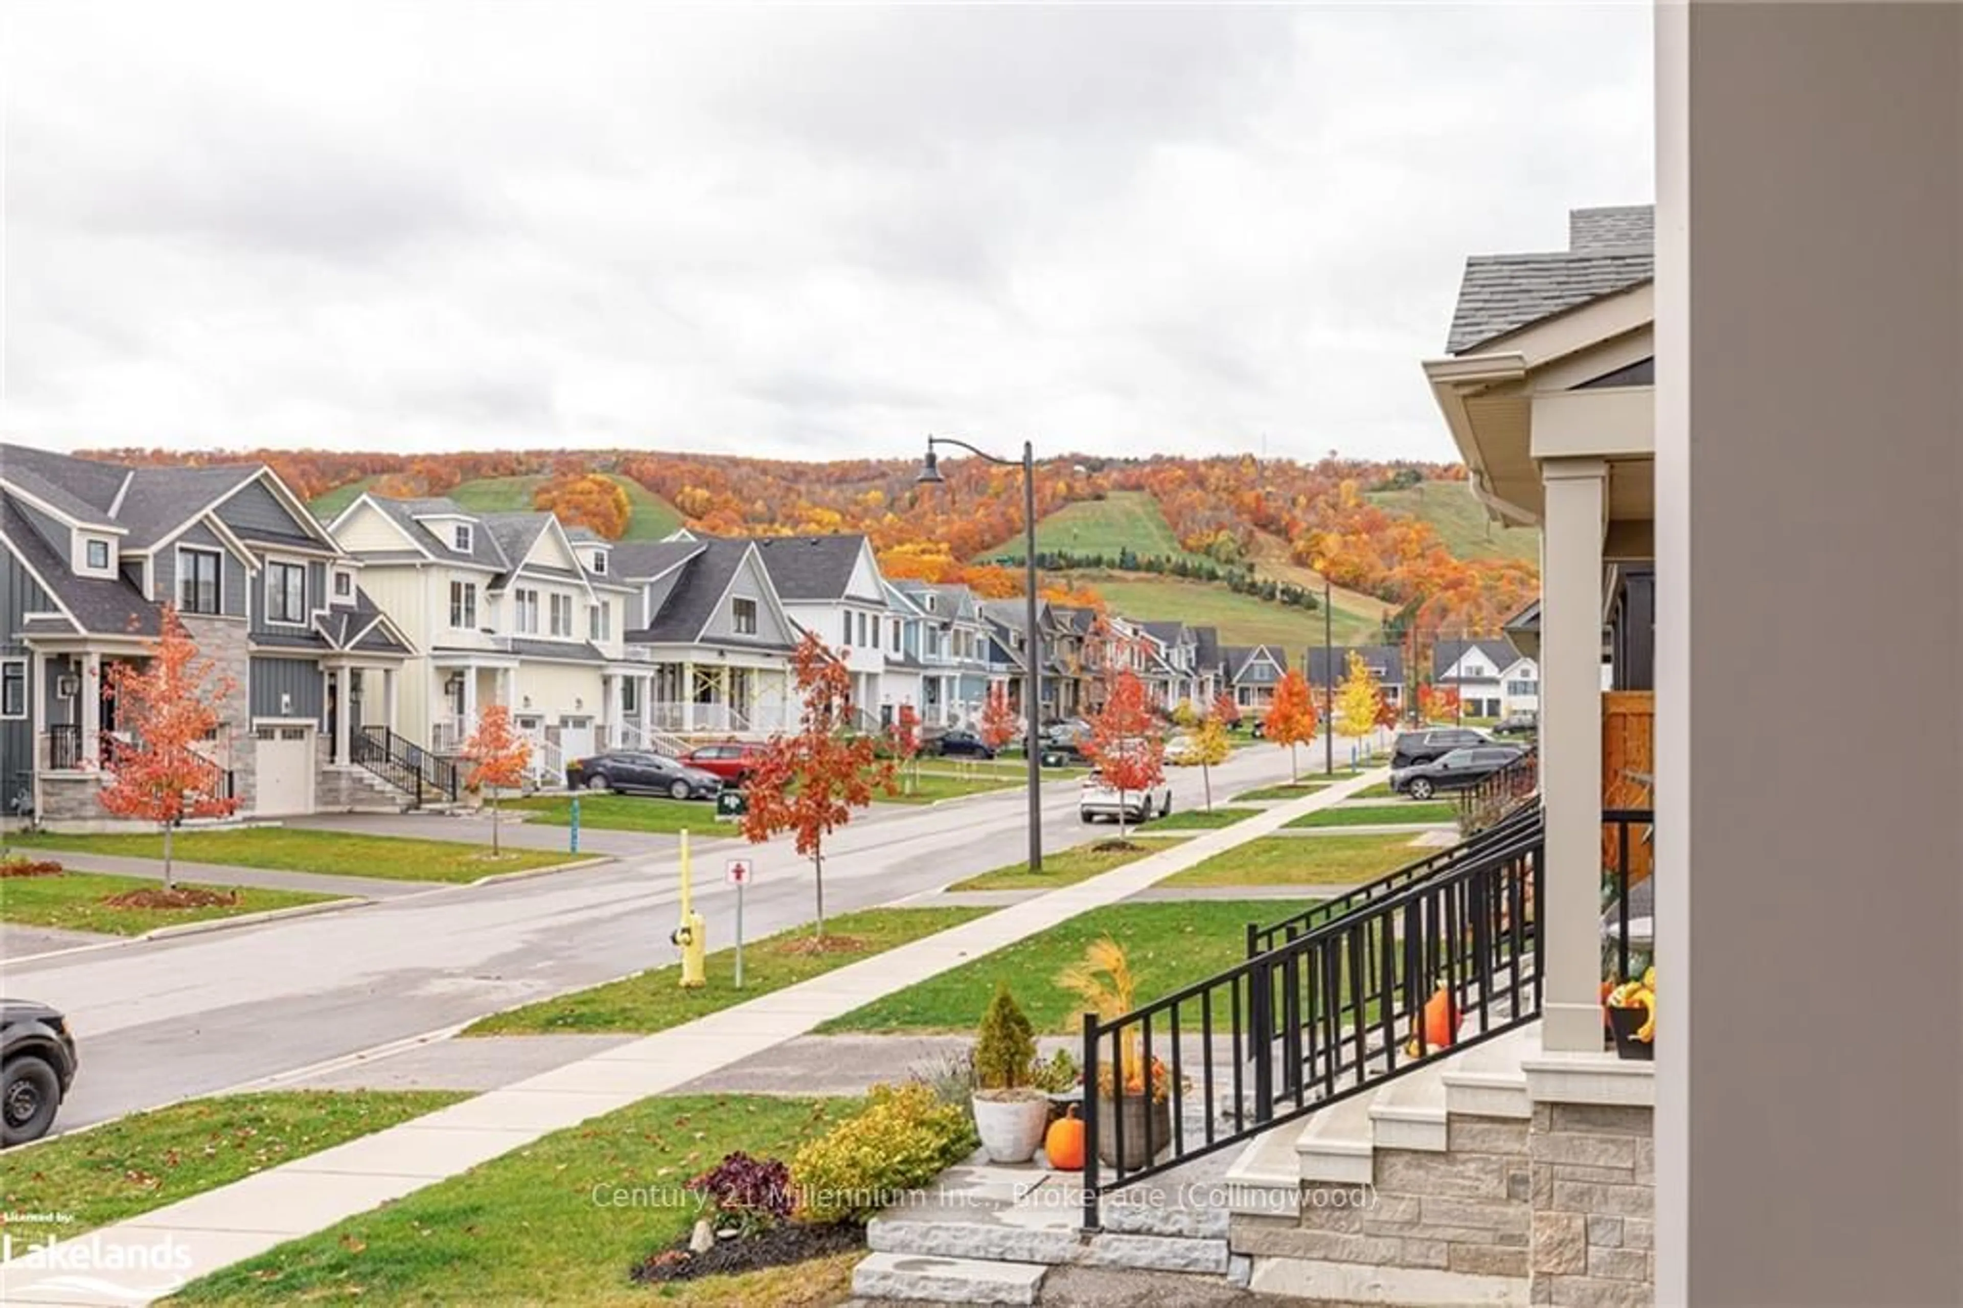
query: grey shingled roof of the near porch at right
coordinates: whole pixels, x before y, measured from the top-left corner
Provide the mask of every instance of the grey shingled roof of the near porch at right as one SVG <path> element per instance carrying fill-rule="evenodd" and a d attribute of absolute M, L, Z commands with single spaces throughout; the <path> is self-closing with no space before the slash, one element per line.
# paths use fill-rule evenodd
<path fill-rule="evenodd" d="M 1568 249 L 1466 259 L 1445 352 L 1466 354 L 1655 275 L 1655 206 L 1576 208 Z"/>

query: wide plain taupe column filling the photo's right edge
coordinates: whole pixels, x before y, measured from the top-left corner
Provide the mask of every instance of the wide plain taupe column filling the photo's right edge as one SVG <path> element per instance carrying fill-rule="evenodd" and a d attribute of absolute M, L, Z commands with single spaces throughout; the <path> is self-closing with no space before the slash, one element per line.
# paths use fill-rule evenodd
<path fill-rule="evenodd" d="M 1657 1304 L 1963 1304 L 1963 8 L 1655 24 Z"/>

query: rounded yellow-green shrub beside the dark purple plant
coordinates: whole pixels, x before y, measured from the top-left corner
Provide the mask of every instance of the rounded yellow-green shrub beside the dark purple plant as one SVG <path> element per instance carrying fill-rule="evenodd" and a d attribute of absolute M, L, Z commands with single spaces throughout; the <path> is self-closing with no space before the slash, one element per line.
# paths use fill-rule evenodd
<path fill-rule="evenodd" d="M 968 1114 L 928 1084 L 874 1086 L 870 1098 L 791 1159 L 801 1220 L 864 1222 L 974 1153 Z"/>

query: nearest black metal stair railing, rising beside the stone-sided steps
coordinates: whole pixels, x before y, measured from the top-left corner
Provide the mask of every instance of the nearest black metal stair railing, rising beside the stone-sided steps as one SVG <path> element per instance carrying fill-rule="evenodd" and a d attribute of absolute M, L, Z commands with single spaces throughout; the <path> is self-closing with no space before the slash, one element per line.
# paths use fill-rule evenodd
<path fill-rule="evenodd" d="M 1239 1145 L 1539 1017 L 1541 852 L 1539 825 L 1527 825 L 1135 1011 L 1111 1021 L 1086 1013 L 1086 1229 L 1099 1226 L 1105 1188 Z M 1431 1039 L 1425 1017 L 1441 992 L 1453 1013 L 1447 1043 Z"/>

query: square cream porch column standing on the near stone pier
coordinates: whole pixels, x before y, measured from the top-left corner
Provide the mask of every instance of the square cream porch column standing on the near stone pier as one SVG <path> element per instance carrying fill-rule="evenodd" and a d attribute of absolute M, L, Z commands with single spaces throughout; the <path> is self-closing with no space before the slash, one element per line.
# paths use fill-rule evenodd
<path fill-rule="evenodd" d="M 1541 791 L 1547 1049 L 1602 1053 L 1602 528 L 1608 463 L 1547 460 L 1541 534 Z"/>

